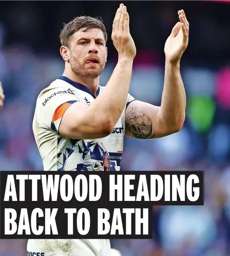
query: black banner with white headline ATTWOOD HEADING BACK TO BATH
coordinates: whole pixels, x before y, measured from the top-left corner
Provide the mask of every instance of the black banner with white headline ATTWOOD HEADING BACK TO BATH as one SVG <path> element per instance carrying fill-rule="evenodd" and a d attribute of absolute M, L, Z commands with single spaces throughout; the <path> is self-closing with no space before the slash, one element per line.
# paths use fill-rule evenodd
<path fill-rule="evenodd" d="M 152 205 L 203 205 L 202 171 L 0 172 L 0 238 L 152 238 Z"/>

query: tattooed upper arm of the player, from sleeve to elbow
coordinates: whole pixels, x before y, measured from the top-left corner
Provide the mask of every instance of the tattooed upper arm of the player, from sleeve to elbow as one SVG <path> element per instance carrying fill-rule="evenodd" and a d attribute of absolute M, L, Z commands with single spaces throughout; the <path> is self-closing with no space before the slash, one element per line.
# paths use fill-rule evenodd
<path fill-rule="evenodd" d="M 159 138 L 162 131 L 158 122 L 159 106 L 143 101 L 132 101 L 125 111 L 125 135 L 131 138 Z"/>

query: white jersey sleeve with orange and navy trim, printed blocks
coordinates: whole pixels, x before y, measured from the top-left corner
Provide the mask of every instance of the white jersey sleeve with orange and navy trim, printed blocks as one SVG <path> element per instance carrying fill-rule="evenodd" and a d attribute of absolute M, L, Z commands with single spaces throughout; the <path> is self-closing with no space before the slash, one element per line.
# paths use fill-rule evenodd
<path fill-rule="evenodd" d="M 80 101 L 76 92 L 67 88 L 55 88 L 45 92 L 36 105 L 36 119 L 38 125 L 43 129 L 59 129 L 62 116 L 67 108 Z"/>

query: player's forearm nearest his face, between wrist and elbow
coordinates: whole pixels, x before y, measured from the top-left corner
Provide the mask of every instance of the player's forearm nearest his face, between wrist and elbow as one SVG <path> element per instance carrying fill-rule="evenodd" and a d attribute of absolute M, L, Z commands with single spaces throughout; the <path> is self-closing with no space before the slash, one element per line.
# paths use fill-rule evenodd
<path fill-rule="evenodd" d="M 119 120 L 125 107 L 132 67 L 132 58 L 120 59 L 106 88 L 92 104 L 93 111 L 96 111 L 98 115 L 106 118 L 106 120 L 108 119 L 112 126 Z"/>

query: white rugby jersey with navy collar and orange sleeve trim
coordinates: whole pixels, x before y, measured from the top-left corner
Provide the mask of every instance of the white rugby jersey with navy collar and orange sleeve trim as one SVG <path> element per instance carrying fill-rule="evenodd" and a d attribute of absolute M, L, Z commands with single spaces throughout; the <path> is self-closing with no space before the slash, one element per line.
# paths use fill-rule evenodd
<path fill-rule="evenodd" d="M 104 87 L 99 86 L 97 95 Z M 62 116 L 76 101 L 90 105 L 96 97 L 85 85 L 61 76 L 37 98 L 33 132 L 44 171 L 120 171 L 124 145 L 125 109 L 135 100 L 130 94 L 113 132 L 98 139 L 75 139 L 59 134 Z"/>

